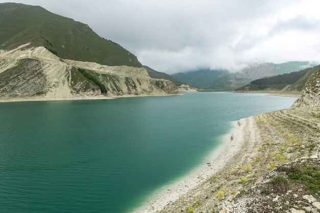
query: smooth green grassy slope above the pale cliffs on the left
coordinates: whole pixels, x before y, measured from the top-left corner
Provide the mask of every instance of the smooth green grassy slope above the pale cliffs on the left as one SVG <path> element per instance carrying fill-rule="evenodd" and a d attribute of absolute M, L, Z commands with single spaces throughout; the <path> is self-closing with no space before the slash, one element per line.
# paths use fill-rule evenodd
<path fill-rule="evenodd" d="M 44 46 L 64 59 L 142 66 L 133 54 L 100 37 L 87 25 L 39 6 L 0 4 L 0 32 L 1 49 L 31 42 L 30 46 Z"/>

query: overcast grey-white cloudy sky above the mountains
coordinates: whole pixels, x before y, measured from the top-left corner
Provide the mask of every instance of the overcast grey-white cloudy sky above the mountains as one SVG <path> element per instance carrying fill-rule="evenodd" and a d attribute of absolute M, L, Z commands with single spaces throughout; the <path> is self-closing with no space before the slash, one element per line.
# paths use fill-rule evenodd
<path fill-rule="evenodd" d="M 1 1 L 0 2 L 7 2 Z M 169 74 L 320 61 L 318 0 L 22 0 L 87 23 Z"/>

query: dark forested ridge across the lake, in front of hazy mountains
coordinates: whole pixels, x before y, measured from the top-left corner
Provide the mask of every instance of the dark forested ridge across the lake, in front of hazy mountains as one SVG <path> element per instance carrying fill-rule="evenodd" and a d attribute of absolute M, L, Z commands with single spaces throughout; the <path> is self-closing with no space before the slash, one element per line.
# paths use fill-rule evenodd
<path fill-rule="evenodd" d="M 298 72 L 292 72 L 289 74 L 281 74 L 278 76 L 261 78 L 261 79 L 252 81 L 250 82 L 250 84 L 247 84 L 236 90 L 245 90 L 245 91 L 282 90 L 286 86 L 294 84 L 299 79 L 304 78 L 306 74 L 314 68 L 307 68 L 307 69 L 303 69 Z M 302 91 L 302 88 L 301 90 L 298 90 L 297 88 L 296 91 Z"/>

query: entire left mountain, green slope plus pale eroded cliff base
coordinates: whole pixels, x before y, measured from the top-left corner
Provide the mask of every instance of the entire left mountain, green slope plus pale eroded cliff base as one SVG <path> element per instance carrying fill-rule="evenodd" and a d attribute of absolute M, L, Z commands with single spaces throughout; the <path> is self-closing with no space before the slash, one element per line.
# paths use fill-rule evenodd
<path fill-rule="evenodd" d="M 0 4 L 0 97 L 44 100 L 178 93 L 87 25 L 38 6 Z"/>

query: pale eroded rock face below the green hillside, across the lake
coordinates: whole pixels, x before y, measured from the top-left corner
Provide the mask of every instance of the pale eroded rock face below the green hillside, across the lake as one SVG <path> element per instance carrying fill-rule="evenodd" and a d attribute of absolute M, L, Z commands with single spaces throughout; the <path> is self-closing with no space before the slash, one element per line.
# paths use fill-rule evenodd
<path fill-rule="evenodd" d="M 63 60 L 43 47 L 0 50 L 0 97 L 45 99 L 77 96 L 157 96 L 178 93 L 167 80 L 151 79 L 144 67 L 106 66 Z"/>

